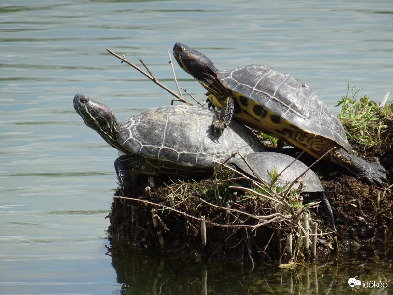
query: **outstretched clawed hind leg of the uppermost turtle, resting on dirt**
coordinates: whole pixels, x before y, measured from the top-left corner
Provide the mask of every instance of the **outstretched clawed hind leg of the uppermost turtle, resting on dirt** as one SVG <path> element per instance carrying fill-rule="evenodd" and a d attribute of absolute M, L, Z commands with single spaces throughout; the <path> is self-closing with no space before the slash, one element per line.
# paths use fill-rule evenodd
<path fill-rule="evenodd" d="M 342 148 L 333 150 L 330 156 L 338 165 L 362 177 L 370 184 L 375 183 L 382 186 L 382 183 L 387 181 L 385 168 L 378 162 L 368 163 L 357 156 L 347 153 Z"/>

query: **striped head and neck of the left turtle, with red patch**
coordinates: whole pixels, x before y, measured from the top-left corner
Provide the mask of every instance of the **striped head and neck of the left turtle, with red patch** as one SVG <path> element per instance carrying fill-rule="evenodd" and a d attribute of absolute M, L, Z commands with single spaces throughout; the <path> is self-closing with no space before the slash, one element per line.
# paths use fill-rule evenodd
<path fill-rule="evenodd" d="M 98 132 L 113 148 L 123 150 L 117 141 L 117 120 L 111 109 L 84 95 L 74 97 L 74 109 L 82 117 L 84 123 Z"/>

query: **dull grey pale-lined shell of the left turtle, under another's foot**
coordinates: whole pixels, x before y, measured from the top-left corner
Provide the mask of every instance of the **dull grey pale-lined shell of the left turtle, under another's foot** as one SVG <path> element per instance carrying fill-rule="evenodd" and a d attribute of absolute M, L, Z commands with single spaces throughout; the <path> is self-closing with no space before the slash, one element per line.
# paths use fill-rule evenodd
<path fill-rule="evenodd" d="M 171 175 L 205 173 L 213 160 L 225 161 L 237 151 L 246 155 L 264 150 L 260 140 L 236 121 L 215 134 L 210 128 L 214 116 L 211 110 L 189 105 L 150 108 L 119 123 L 117 140 L 159 173 Z"/>

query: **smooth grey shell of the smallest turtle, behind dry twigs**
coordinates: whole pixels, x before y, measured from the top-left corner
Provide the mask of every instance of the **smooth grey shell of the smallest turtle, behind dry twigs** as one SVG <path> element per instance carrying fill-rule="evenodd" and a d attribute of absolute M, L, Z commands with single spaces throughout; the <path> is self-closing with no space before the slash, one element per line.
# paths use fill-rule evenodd
<path fill-rule="evenodd" d="M 291 183 L 308 169 L 305 164 L 295 158 L 276 152 L 255 152 L 245 156 L 245 159 L 253 168 L 255 173 L 257 173 L 258 176 L 266 183 L 270 183 L 272 181 L 268 172 L 273 172 L 274 168 L 277 167 L 277 173 L 280 174 L 286 168 L 276 180 L 276 186 L 279 187 L 283 187 L 285 184 Z M 229 165 L 233 166 L 237 171 L 245 173 L 256 179 L 253 172 L 243 159 L 236 159 L 230 162 Z M 303 181 L 303 185 L 305 185 L 304 192 L 306 193 L 325 191 L 317 175 L 310 169 L 307 170 L 304 176 L 299 180 Z M 295 188 L 298 186 L 299 185 L 295 185 Z"/>

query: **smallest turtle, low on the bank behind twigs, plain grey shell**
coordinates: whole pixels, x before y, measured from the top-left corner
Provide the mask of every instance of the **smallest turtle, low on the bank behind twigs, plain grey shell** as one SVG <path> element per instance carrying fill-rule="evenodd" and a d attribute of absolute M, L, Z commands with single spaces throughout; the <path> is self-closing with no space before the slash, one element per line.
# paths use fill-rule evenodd
<path fill-rule="evenodd" d="M 269 173 L 272 173 L 276 168 L 278 174 L 274 184 L 276 187 L 285 187 L 301 176 L 299 178 L 303 183 L 301 195 L 305 198 L 314 198 L 318 196 L 328 211 L 333 229 L 336 230 L 332 207 L 326 196 L 325 189 L 319 177 L 303 164 L 303 162 L 283 153 L 263 151 L 250 153 L 244 156 L 244 160 L 242 158 L 235 159 L 226 165 L 258 181 L 259 179 L 254 175 L 246 162 L 253 168 L 253 171 L 258 177 L 267 184 L 272 182 Z M 296 183 L 294 188 L 298 188 L 299 185 L 300 182 Z"/>

